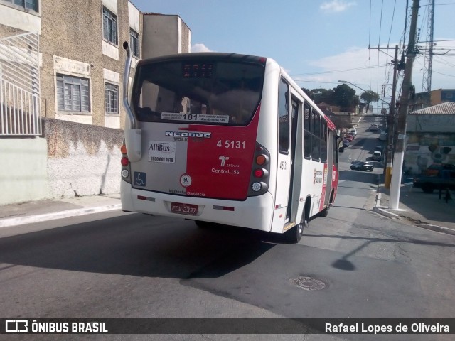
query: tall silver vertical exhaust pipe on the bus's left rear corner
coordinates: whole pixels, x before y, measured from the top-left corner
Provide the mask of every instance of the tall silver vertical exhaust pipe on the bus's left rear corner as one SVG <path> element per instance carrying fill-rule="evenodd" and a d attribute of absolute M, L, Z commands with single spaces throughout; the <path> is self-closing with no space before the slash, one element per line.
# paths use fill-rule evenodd
<path fill-rule="evenodd" d="M 123 105 L 127 110 L 129 119 L 129 129 L 125 129 L 125 145 L 129 161 L 137 162 L 141 159 L 141 129 L 137 128 L 137 120 L 128 103 L 128 82 L 129 70 L 131 68 L 131 50 L 128 42 L 123 43 L 123 48 L 127 51 L 127 60 L 125 61 L 125 70 L 123 74 Z"/>

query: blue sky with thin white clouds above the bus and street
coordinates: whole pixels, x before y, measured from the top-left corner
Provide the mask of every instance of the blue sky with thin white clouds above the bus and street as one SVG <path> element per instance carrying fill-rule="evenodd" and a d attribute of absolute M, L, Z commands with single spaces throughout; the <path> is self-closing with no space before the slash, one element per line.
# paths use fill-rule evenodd
<path fill-rule="evenodd" d="M 346 80 L 360 95 L 390 102 L 395 45 L 409 42 L 412 0 L 130 0 L 139 11 L 181 17 L 192 52 L 228 52 L 273 58 L 298 85 L 333 89 Z M 420 0 L 412 84 L 424 82 L 431 0 Z M 409 2 L 409 9 L 406 4 Z M 434 0 L 431 90 L 455 89 L 455 0 Z M 405 27 L 407 28 L 405 30 Z M 389 49 L 385 49 L 385 48 Z M 403 72 L 398 79 L 398 92 Z M 354 86 L 355 85 L 355 86 Z M 383 102 L 375 104 L 382 107 Z"/>

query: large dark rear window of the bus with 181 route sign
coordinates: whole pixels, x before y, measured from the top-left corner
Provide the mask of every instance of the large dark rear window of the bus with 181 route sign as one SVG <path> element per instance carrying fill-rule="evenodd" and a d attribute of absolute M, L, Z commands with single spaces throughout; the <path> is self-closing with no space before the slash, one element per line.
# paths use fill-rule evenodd
<path fill-rule="evenodd" d="M 264 66 L 220 60 L 142 65 L 133 90 L 139 121 L 243 126 L 262 93 Z"/>

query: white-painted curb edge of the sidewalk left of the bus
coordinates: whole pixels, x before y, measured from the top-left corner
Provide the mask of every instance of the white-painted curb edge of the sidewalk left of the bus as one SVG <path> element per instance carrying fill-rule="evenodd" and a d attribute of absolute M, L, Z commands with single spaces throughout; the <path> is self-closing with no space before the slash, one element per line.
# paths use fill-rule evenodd
<path fill-rule="evenodd" d="M 93 213 L 120 210 L 121 208 L 122 208 L 122 204 L 113 204 L 113 205 L 98 206 L 98 207 L 76 208 L 74 210 L 45 213 L 43 215 L 31 215 L 31 216 L 26 216 L 26 217 L 6 218 L 6 219 L 0 220 L 0 228 L 17 226 L 17 225 L 22 225 L 22 224 L 31 224 L 32 222 L 45 222 L 48 220 L 56 220 L 56 219 L 62 219 L 62 218 L 66 218 L 66 217 L 91 215 Z"/>

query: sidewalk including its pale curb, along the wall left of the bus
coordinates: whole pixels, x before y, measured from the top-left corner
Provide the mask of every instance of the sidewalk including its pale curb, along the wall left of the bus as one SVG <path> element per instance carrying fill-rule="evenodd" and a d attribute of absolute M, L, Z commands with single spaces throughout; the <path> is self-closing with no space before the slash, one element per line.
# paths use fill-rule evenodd
<path fill-rule="evenodd" d="M 0 228 L 120 210 L 120 195 L 91 195 L 0 206 Z"/>

